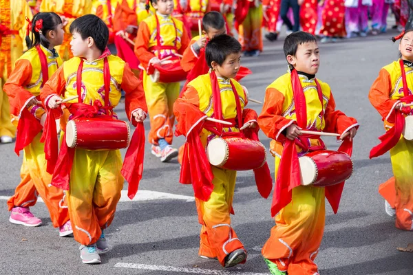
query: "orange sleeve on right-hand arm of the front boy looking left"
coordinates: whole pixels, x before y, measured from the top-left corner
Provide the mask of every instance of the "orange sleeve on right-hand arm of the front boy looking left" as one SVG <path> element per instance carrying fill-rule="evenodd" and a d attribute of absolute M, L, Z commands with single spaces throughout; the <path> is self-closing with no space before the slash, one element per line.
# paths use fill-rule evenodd
<path fill-rule="evenodd" d="M 136 78 L 134 72 L 127 63 L 123 69 L 122 84 L 120 87 L 125 91 L 125 111 L 129 121 L 136 126 L 136 121 L 131 120 L 131 113 L 136 109 L 142 109 L 145 113 L 148 112 L 145 92 L 143 91 L 142 81 Z"/>

